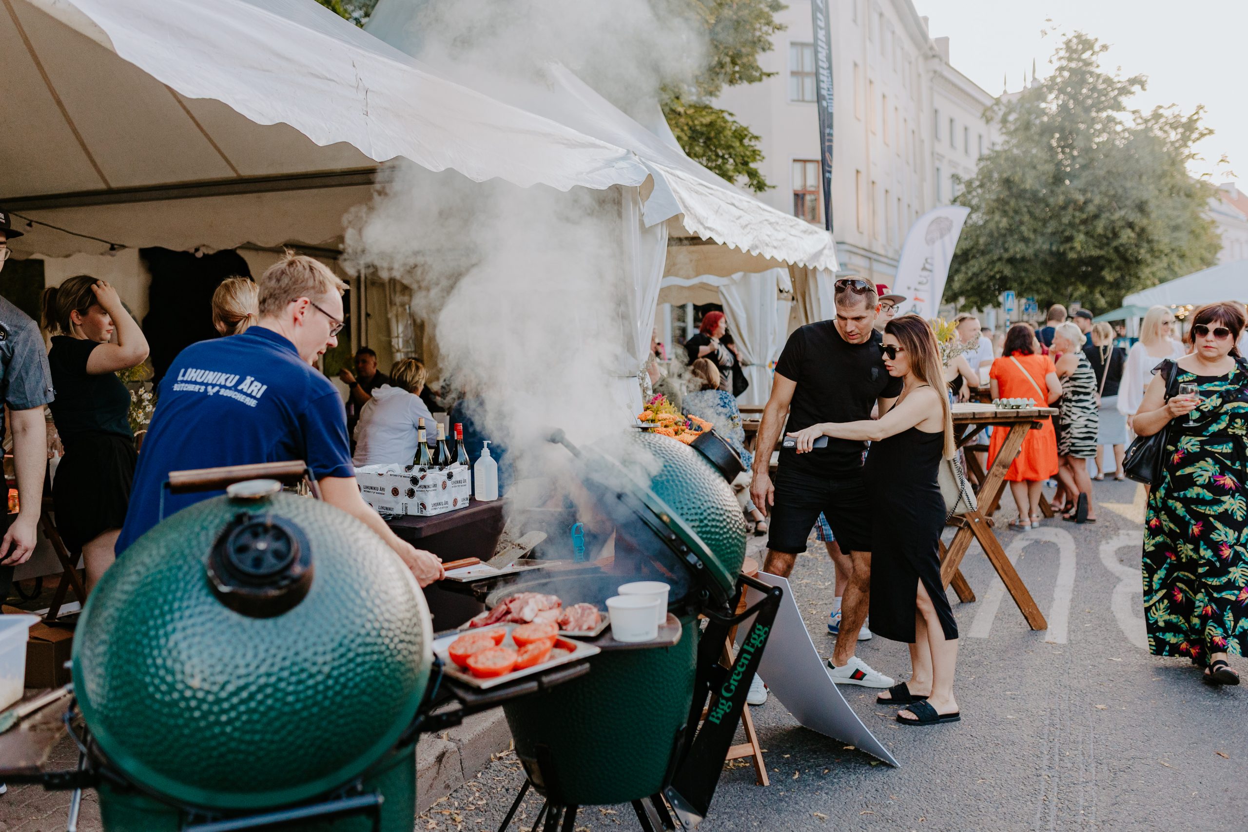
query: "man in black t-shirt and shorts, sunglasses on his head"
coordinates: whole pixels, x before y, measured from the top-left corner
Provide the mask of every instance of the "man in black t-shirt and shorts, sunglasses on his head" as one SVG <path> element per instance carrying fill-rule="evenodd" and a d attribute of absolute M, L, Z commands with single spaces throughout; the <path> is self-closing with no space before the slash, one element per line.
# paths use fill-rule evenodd
<path fill-rule="evenodd" d="M 841 550 L 851 561 L 850 583 L 841 602 L 836 650 L 829 660 L 837 684 L 890 687 L 894 682 L 854 655 L 866 619 L 871 581 L 871 504 L 862 483 L 866 443 L 829 439 L 825 448 L 797 455 L 780 450 L 773 484 L 771 452 L 782 433 L 820 422 L 859 422 L 871 408 L 884 413 L 901 393 L 901 379 L 889 375 L 880 353 L 882 341 L 872 327 L 880 312 L 875 284 L 861 278 L 836 281 L 836 318 L 796 329 L 789 336 L 763 413 L 754 478 L 754 504 L 771 513 L 764 571 L 786 576 L 822 513 Z M 785 419 L 787 418 L 787 425 Z"/>

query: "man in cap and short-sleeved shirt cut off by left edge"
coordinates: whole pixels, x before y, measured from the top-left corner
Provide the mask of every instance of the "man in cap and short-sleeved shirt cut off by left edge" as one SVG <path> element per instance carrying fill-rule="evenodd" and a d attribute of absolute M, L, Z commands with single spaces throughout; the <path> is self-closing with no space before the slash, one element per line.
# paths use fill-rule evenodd
<path fill-rule="evenodd" d="M 12 252 L 9 241 L 21 237 L 7 211 L 0 208 L 0 271 Z M 30 559 L 35 549 L 39 514 L 44 503 L 44 470 L 47 468 L 47 428 L 44 405 L 52 400 L 52 373 L 39 327 L 25 312 L 0 297 L 0 398 L 12 420 L 12 462 L 17 474 L 17 516 L 10 524 L 0 516 L 0 600 L 12 588 L 12 570 Z M 4 412 L 0 410 L 0 435 Z"/>

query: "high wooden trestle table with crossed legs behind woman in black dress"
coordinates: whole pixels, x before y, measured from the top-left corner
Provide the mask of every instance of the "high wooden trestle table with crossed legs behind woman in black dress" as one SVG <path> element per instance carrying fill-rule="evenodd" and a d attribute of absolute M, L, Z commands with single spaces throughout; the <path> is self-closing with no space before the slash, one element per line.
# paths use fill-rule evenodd
<path fill-rule="evenodd" d="M 971 546 L 971 541 L 978 540 L 988 561 L 997 570 L 997 575 L 1001 576 L 1001 581 L 1010 590 L 1011 597 L 1018 605 L 1032 630 L 1047 630 L 1048 624 L 1031 597 L 1031 593 L 1027 591 L 1027 586 L 1018 578 L 1018 573 L 1015 571 L 1013 564 L 1006 558 L 1005 549 L 1001 548 L 1001 543 L 992 530 L 990 518 L 997 510 L 1001 493 L 1006 485 L 1006 473 L 1022 449 L 1027 432 L 1038 428 L 1043 419 L 1056 415 L 1057 410 L 1053 408 L 995 408 L 991 404 L 975 403 L 953 405 L 953 432 L 957 435 L 958 448 L 971 444 L 971 440 L 987 427 L 1010 433 L 1006 435 L 1001 450 L 997 452 L 996 459 L 980 478 L 981 485 L 976 494 L 978 509 L 953 518 L 958 529 L 947 549 L 941 543 L 941 580 L 945 586 L 952 584 L 953 591 L 963 602 L 975 600 L 975 593 L 971 591 L 971 586 L 958 570 L 958 565 Z"/>

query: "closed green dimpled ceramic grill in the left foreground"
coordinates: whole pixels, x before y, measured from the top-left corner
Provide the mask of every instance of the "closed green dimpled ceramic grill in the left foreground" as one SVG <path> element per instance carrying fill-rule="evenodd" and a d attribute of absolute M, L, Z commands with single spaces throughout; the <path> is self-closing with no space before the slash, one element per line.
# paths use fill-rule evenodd
<path fill-rule="evenodd" d="M 272 480 L 178 511 L 109 569 L 74 641 L 117 775 L 105 828 L 372 797 L 332 828 L 411 830 L 432 632 L 411 573 L 344 511 Z"/>

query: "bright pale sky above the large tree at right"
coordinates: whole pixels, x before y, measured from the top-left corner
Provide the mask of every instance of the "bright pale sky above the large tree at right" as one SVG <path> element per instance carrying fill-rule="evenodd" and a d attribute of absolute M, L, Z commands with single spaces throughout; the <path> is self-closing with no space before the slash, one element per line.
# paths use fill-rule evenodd
<path fill-rule="evenodd" d="M 948 36 L 950 60 L 963 75 L 992 95 L 1001 94 L 1002 75 L 1011 92 L 1022 86 L 1023 71 L 1047 76 L 1061 37 L 1042 29 L 1085 31 L 1111 45 L 1102 67 L 1121 66 L 1124 76 L 1148 76 L 1148 89 L 1132 106 L 1152 110 L 1176 104 L 1184 112 L 1204 105 L 1204 123 L 1214 135 L 1197 146 L 1203 160 L 1193 173 L 1211 173 L 1213 182 L 1238 173 L 1248 183 L 1248 101 L 1244 96 L 1244 54 L 1248 31 L 1244 0 L 914 0 L 926 15 L 932 37 Z M 1052 24 L 1046 22 L 1052 20 Z M 1226 156 L 1229 165 L 1218 165 Z"/>

